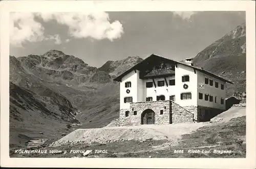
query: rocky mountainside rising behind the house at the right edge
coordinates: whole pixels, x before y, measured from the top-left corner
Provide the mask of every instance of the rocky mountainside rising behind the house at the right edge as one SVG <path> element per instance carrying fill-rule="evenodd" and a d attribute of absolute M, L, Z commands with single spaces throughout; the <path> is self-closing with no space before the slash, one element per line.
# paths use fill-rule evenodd
<path fill-rule="evenodd" d="M 246 25 L 243 23 L 210 44 L 194 58 L 194 65 L 231 80 L 227 96 L 246 91 Z"/>

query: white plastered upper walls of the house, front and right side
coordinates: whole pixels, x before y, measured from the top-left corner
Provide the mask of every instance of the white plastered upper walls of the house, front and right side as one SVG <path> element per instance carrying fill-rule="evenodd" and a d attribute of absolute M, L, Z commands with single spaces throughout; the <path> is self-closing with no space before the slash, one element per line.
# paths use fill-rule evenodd
<path fill-rule="evenodd" d="M 189 81 L 182 82 L 182 76 L 189 76 Z M 204 85 L 204 89 L 198 89 L 200 83 L 204 83 L 205 77 L 213 80 L 213 85 Z M 175 79 L 175 85 L 169 85 L 169 80 Z M 157 101 L 157 96 L 164 95 L 165 100 L 169 100 L 170 95 L 175 95 L 175 102 L 180 106 L 205 106 L 217 109 L 225 109 L 225 82 L 211 76 L 203 74 L 199 70 L 194 70 L 183 64 L 177 64 L 175 67 L 175 76 L 166 77 L 168 86 L 164 78 L 154 78 L 156 87 L 147 88 L 146 82 L 153 82 L 153 79 L 140 79 L 139 70 L 133 70 L 121 79 L 120 83 L 120 109 L 129 109 L 130 103 L 124 103 L 125 97 L 132 97 L 132 102 L 145 102 L 147 97 L 152 97 L 153 101 Z M 164 86 L 159 87 L 158 81 L 164 81 Z M 125 87 L 125 82 L 131 82 L 131 87 Z M 219 87 L 215 87 L 215 82 L 218 82 Z M 183 85 L 188 87 L 185 89 Z M 221 84 L 224 85 L 224 90 L 221 89 Z M 129 89 L 129 93 L 126 90 Z M 199 92 L 203 94 L 203 99 L 199 99 Z M 181 93 L 191 93 L 191 99 L 181 100 Z M 205 101 L 205 94 L 212 95 L 213 101 Z M 217 96 L 217 103 L 215 103 Z M 221 104 L 221 98 L 224 99 L 224 104 Z"/>

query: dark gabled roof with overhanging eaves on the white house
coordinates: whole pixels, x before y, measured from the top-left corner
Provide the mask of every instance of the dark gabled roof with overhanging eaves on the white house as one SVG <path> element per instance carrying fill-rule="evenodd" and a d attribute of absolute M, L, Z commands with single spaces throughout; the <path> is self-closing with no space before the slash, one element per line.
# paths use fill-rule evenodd
<path fill-rule="evenodd" d="M 166 61 L 166 62 L 173 62 L 173 63 L 175 63 L 175 64 L 182 64 L 182 65 L 191 67 L 191 68 L 193 68 L 194 70 L 201 71 L 202 73 L 204 73 L 204 74 L 206 74 L 206 75 L 209 75 L 209 76 L 211 76 L 211 77 L 214 77 L 214 78 L 216 78 L 216 79 L 219 79 L 219 80 L 221 80 L 221 81 L 224 81 L 224 82 L 233 84 L 232 82 L 230 82 L 230 81 L 228 81 L 228 80 L 226 80 L 226 79 L 224 79 L 224 78 L 221 78 L 221 77 L 219 77 L 219 76 L 217 76 L 217 75 L 215 75 L 215 74 L 212 74 L 212 73 L 210 73 L 209 71 L 206 71 L 206 70 L 204 70 L 204 69 L 202 69 L 202 68 L 195 67 L 195 66 L 191 66 L 191 65 L 188 65 L 188 64 L 186 64 L 186 63 L 174 61 L 174 60 L 172 60 L 172 59 L 167 59 L 167 58 L 164 58 L 164 57 L 161 57 L 161 56 L 157 56 L 157 55 L 155 55 L 155 54 L 152 54 L 152 55 L 148 56 L 147 58 L 145 58 L 144 60 L 142 60 L 142 61 L 139 62 L 138 64 L 136 64 L 136 65 L 134 65 L 133 67 L 131 67 L 130 69 L 124 71 L 124 73 L 122 73 L 121 75 L 119 75 L 118 77 L 116 77 L 116 78 L 114 79 L 114 81 L 121 82 L 121 79 L 122 79 L 125 75 L 129 74 L 129 73 L 130 73 L 131 71 L 133 71 L 133 70 L 139 69 L 139 67 L 140 67 L 144 62 L 146 62 L 147 60 L 150 60 L 150 59 L 154 59 L 154 58 L 155 58 L 155 59 L 161 59 L 161 60 L 164 60 L 164 61 Z"/>

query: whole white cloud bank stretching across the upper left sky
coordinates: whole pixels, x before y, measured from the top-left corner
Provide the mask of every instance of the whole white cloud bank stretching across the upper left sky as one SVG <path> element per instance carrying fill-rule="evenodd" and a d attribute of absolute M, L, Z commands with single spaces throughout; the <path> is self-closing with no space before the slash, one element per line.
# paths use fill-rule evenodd
<path fill-rule="evenodd" d="M 69 35 L 74 38 L 109 39 L 113 41 L 123 34 L 122 24 L 115 20 L 110 21 L 106 12 L 93 13 L 25 13 L 13 12 L 10 15 L 10 43 L 22 46 L 22 43 L 42 40 L 55 40 L 60 44 L 59 35 L 44 36 L 45 28 L 35 17 L 41 17 L 45 22 L 56 20 L 60 25 L 68 26 Z M 66 39 L 66 42 L 70 40 Z"/>

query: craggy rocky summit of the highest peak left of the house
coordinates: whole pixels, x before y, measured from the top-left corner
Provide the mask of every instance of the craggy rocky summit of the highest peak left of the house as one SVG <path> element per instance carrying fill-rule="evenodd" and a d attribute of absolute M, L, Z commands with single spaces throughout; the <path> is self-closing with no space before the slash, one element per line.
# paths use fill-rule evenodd
<path fill-rule="evenodd" d="M 87 82 L 108 83 L 111 77 L 96 67 L 89 66 L 81 59 L 63 52 L 51 50 L 44 55 L 29 55 L 17 58 L 22 66 L 29 69 L 33 75 L 59 82 L 81 85 Z M 103 76 L 102 76 L 103 75 Z"/>

